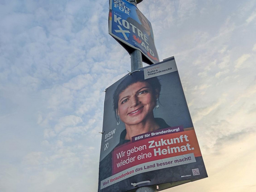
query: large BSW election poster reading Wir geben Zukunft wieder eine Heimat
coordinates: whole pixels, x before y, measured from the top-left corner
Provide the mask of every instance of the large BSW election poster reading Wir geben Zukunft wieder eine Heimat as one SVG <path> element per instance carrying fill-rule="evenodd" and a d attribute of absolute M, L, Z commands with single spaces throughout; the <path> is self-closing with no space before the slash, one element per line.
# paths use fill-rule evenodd
<path fill-rule="evenodd" d="M 207 177 L 174 57 L 106 89 L 102 132 L 98 192 Z"/>

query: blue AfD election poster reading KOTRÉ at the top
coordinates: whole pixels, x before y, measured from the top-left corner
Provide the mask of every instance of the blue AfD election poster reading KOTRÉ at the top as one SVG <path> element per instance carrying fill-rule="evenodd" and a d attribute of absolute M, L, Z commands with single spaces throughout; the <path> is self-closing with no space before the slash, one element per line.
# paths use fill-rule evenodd
<path fill-rule="evenodd" d="M 159 62 L 151 23 L 140 10 L 126 0 L 110 0 L 109 34 L 129 53 L 134 49 L 142 52 L 142 60 Z"/>

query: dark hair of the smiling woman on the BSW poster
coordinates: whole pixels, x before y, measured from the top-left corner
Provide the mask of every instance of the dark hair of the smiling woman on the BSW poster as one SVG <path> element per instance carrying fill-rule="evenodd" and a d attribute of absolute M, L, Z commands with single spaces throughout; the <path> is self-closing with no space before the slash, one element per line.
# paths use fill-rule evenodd
<path fill-rule="evenodd" d="M 147 82 L 152 87 L 153 95 L 160 94 L 161 84 L 157 77 L 144 79 L 143 70 L 135 71 L 131 75 L 127 75 L 126 77 L 124 77 L 124 79 L 117 86 L 117 88 L 113 94 L 113 105 L 114 105 L 113 107 L 114 107 L 115 115 L 116 115 L 116 109 L 118 108 L 119 95 L 127 87 L 129 87 L 130 85 L 137 83 L 137 82 Z M 116 119 L 117 119 L 117 115 L 116 115 Z"/>

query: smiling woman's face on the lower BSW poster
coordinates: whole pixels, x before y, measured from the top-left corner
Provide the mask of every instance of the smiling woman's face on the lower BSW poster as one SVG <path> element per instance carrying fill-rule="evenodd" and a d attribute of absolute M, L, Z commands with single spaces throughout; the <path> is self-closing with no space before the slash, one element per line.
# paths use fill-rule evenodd
<path fill-rule="evenodd" d="M 120 93 L 117 113 L 128 125 L 146 121 L 153 118 L 157 97 L 147 82 L 136 82 Z"/>

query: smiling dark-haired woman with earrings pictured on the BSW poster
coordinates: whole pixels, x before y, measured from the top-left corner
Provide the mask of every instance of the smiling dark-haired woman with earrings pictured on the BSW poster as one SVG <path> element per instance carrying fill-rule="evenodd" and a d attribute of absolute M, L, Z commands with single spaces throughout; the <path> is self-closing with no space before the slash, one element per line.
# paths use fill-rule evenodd
<path fill-rule="evenodd" d="M 113 94 L 116 120 L 117 124 L 121 120 L 126 128 L 119 145 L 131 141 L 133 136 L 169 127 L 164 120 L 154 118 L 160 91 L 158 78 L 144 79 L 143 71 L 132 73 L 117 86 Z"/>

